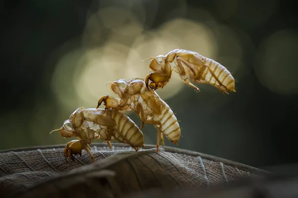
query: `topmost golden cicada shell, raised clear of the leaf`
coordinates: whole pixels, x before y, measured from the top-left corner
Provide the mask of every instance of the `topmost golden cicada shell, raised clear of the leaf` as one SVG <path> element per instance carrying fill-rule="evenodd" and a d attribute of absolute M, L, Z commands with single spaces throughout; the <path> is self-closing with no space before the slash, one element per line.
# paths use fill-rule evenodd
<path fill-rule="evenodd" d="M 163 88 L 171 78 L 172 71 L 178 73 L 185 84 L 196 91 L 197 83 L 208 83 L 218 88 L 222 93 L 235 91 L 235 79 L 231 73 L 220 63 L 204 57 L 197 52 L 185 49 L 174 49 L 165 55 L 150 57 L 149 67 L 153 72 L 145 79 L 146 86 L 156 90 Z M 149 80 L 151 83 L 149 83 Z"/>

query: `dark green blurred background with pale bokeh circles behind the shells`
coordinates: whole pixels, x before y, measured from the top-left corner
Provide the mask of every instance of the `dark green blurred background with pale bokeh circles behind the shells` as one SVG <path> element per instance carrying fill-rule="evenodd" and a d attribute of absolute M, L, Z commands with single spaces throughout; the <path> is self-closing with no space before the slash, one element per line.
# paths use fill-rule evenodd
<path fill-rule="evenodd" d="M 296 12 L 290 0 L 6 0 L 0 149 L 68 143 L 50 131 L 111 95 L 106 82 L 145 78 L 143 59 L 178 48 L 223 64 L 237 91 L 196 93 L 173 73 L 157 93 L 180 120 L 179 148 L 260 168 L 298 162 Z M 143 133 L 156 144 L 153 126 Z"/>

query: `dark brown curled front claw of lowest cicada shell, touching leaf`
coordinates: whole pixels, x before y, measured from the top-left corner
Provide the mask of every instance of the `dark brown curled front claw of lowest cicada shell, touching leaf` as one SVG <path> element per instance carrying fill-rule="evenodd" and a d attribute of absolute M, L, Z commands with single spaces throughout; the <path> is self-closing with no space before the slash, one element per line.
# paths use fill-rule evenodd
<path fill-rule="evenodd" d="M 82 155 L 82 149 L 84 149 L 84 144 L 80 140 L 73 140 L 69 142 L 64 148 L 64 156 L 67 161 L 67 157 L 70 157 L 73 161 L 77 162 L 74 159 L 74 155 L 79 154 Z"/>

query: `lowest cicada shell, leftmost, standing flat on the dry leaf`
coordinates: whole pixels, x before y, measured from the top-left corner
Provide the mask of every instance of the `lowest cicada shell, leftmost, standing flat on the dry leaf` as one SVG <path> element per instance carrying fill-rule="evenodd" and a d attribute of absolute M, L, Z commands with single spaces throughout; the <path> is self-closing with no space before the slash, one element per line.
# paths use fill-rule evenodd
<path fill-rule="evenodd" d="M 54 131 L 60 131 L 65 138 L 74 136 L 78 139 L 65 147 L 66 160 L 68 156 L 75 160 L 73 154 L 81 155 L 81 150 L 85 149 L 93 162 L 89 144 L 94 138 L 105 140 L 110 148 L 112 139 L 129 144 L 136 151 L 144 147 L 144 135 L 139 127 L 128 116 L 116 110 L 78 107 L 63 126 Z"/>

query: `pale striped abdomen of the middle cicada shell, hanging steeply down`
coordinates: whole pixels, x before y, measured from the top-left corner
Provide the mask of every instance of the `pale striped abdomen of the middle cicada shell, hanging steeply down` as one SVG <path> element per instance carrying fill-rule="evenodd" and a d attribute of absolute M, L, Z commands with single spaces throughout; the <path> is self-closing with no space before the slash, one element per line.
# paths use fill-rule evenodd
<path fill-rule="evenodd" d="M 157 119 L 162 124 L 161 130 L 163 134 L 174 144 L 179 141 L 181 130 L 177 118 L 167 103 L 161 100 L 163 105 L 161 115 Z"/>

